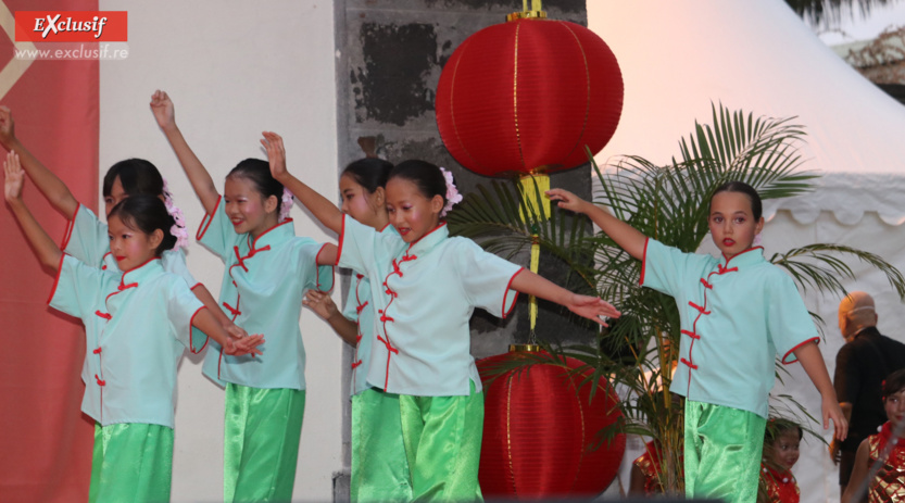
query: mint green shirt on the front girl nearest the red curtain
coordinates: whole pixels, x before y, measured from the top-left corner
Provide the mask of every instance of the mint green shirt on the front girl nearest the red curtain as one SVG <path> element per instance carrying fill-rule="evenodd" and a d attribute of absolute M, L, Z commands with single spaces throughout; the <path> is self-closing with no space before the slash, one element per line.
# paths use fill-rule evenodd
<path fill-rule="evenodd" d="M 179 357 L 204 307 L 186 282 L 158 259 L 114 273 L 64 254 L 48 303 L 85 324 L 81 411 L 101 426 L 173 428 Z"/>

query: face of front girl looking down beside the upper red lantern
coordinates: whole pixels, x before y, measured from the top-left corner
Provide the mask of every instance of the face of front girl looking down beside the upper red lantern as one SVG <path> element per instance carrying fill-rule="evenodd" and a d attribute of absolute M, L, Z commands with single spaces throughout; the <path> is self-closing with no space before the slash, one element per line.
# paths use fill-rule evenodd
<path fill-rule="evenodd" d="M 405 242 L 415 242 L 440 223 L 443 198 L 427 199 L 414 181 L 391 178 L 387 181 L 387 213 L 390 224 Z"/>

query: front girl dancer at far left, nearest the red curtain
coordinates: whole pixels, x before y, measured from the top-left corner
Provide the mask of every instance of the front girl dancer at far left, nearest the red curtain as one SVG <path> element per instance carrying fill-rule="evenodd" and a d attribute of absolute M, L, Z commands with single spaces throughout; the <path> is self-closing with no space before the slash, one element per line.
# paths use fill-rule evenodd
<path fill-rule="evenodd" d="M 81 411 L 96 420 L 89 501 L 169 501 L 176 367 L 196 326 L 229 354 L 261 353 L 261 336 L 232 341 L 185 281 L 164 272 L 174 225 L 161 200 L 139 194 L 110 212 L 118 271 L 60 251 L 22 201 L 24 174 L 7 155 L 5 198 L 40 262 L 58 276 L 49 304 L 81 318 L 88 351 Z"/>

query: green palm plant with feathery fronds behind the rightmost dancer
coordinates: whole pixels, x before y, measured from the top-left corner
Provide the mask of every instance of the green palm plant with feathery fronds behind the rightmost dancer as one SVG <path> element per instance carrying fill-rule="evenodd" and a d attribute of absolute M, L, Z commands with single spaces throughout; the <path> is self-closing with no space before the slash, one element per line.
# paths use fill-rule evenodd
<path fill-rule="evenodd" d="M 679 155 L 669 165 L 626 156 L 601 169 L 591 158 L 601 185 L 594 202 L 605 204 L 644 235 L 694 252 L 708 232 L 708 201 L 720 184 L 745 181 L 763 199 L 812 189 L 818 175 L 801 169 L 799 149 L 804 138 L 803 128 L 790 118 L 758 118 L 714 105 L 713 123 L 695 123 L 694 131 L 680 140 Z M 623 420 L 615 428 L 657 439 L 665 455 L 661 482 L 667 491 L 681 491 L 682 410 L 669 393 L 669 369 L 677 360 L 680 338 L 675 300 L 640 287 L 640 262 L 606 235 L 592 234 L 587 219 L 567 221 L 567 212 L 558 209 L 546 215 L 540 205 L 526 202 L 539 201 L 542 194 L 520 187 L 494 181 L 491 188 L 469 194 L 449 215 L 450 230 L 482 240 L 488 250 L 501 254 L 514 254 L 538 242 L 564 261 L 589 290 L 613 302 L 623 317 L 601 331 L 593 343 L 548 347 L 546 354 L 518 359 L 512 365 L 569 356 L 585 364 L 575 370 L 577 375 L 593 370 L 587 382 L 604 378 L 617 389 L 628 390 L 621 393 Z M 770 261 L 784 267 L 803 290 L 843 292 L 840 278 L 853 276 L 846 264 L 853 259 L 882 271 L 905 298 L 905 278 L 895 267 L 854 248 L 817 243 L 777 253 Z M 612 356 L 615 354 L 631 356 Z M 793 410 L 785 407 L 785 412 Z M 602 438 L 613 432 L 603 432 Z"/>

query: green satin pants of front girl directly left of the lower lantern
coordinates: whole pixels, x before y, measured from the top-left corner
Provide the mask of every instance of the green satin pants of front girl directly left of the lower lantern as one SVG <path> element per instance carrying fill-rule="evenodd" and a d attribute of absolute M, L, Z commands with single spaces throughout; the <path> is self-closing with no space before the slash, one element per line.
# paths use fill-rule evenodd
<path fill-rule="evenodd" d="M 483 393 L 468 397 L 399 395 L 414 501 L 481 501 L 478 465 Z"/>

